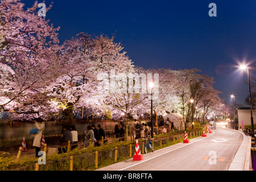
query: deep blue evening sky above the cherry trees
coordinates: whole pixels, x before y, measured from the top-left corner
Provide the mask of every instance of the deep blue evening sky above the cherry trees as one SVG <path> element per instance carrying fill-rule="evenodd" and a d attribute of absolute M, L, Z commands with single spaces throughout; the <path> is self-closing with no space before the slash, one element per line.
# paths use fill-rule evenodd
<path fill-rule="evenodd" d="M 135 65 L 144 68 L 198 68 L 215 78 L 220 97 L 245 105 L 246 72 L 237 61 L 256 59 L 256 1 L 63 1 L 52 0 L 46 14 L 59 39 L 79 32 L 101 33 L 121 42 Z M 46 0 L 46 6 L 52 1 Z M 23 1 L 31 6 L 34 0 Z M 43 1 L 38 1 L 43 2 Z M 209 3 L 217 17 L 210 17 Z"/>

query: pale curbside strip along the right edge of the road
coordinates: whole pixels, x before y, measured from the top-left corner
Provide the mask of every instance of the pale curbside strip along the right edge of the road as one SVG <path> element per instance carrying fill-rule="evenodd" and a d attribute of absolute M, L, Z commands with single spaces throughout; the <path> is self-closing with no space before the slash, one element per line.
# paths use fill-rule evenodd
<path fill-rule="evenodd" d="M 234 156 L 234 159 L 228 168 L 228 171 L 251 171 L 251 166 L 250 166 L 250 147 L 251 147 L 250 138 L 251 137 L 245 135 L 242 131 L 239 131 L 239 130 L 228 129 L 226 127 L 222 127 L 222 128 L 227 130 L 238 131 L 240 134 L 243 135 L 242 143 L 240 144 L 240 147 L 238 148 L 237 153 Z"/>

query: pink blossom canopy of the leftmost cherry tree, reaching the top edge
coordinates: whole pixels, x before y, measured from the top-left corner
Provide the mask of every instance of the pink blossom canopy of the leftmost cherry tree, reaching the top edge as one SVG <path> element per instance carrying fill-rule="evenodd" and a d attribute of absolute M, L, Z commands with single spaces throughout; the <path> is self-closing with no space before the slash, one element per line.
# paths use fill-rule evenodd
<path fill-rule="evenodd" d="M 63 63 L 59 27 L 38 16 L 37 2 L 23 6 L 19 0 L 0 3 L 0 107 L 31 111 L 46 104 L 44 87 L 62 74 Z"/>

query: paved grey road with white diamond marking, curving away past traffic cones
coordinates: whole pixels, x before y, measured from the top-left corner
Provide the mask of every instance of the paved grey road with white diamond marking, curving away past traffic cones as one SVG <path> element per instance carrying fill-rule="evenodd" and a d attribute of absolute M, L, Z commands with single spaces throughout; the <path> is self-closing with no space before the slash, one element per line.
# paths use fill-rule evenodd
<path fill-rule="evenodd" d="M 217 126 L 207 137 L 189 140 L 98 170 L 109 171 L 227 171 L 236 155 L 243 135 Z"/>

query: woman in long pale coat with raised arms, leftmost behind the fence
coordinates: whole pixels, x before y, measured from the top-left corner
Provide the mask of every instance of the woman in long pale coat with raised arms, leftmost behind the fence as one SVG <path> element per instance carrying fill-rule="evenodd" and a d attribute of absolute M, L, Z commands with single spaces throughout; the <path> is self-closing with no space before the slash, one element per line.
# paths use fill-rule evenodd
<path fill-rule="evenodd" d="M 36 150 L 36 157 L 40 157 L 38 152 L 40 151 L 41 139 L 43 135 L 44 128 L 46 127 L 42 118 L 35 119 L 35 127 L 38 129 L 38 134 L 35 135 L 33 146 Z"/>

